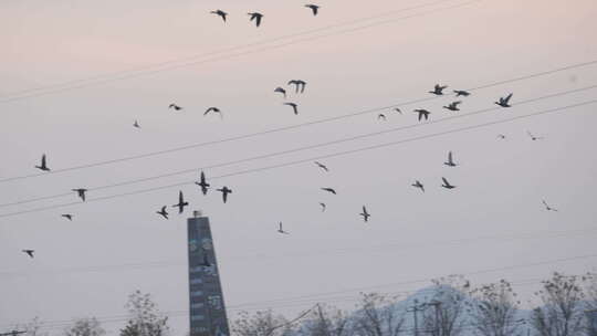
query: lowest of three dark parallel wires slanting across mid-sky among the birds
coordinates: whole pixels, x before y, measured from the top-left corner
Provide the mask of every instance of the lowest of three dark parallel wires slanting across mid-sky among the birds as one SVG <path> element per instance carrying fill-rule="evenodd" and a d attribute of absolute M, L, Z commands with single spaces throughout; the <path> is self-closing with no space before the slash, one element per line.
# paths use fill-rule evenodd
<path fill-rule="evenodd" d="M 586 106 L 586 105 L 590 105 L 590 104 L 595 104 L 595 103 L 597 103 L 597 99 L 587 101 L 587 102 L 573 104 L 573 105 L 567 105 L 567 106 L 562 106 L 562 107 L 556 107 L 556 108 L 551 108 L 551 109 L 545 109 L 545 111 L 541 111 L 541 112 L 536 112 L 536 113 L 532 113 L 532 114 L 526 114 L 526 115 L 521 115 L 521 116 L 515 116 L 515 117 L 511 117 L 511 118 L 506 118 L 506 119 L 489 122 L 489 123 L 478 124 L 478 125 L 473 125 L 473 126 L 467 126 L 467 127 L 461 127 L 461 128 L 454 128 L 454 129 L 451 129 L 451 130 L 439 132 L 439 133 L 434 133 L 434 134 L 412 137 L 412 138 L 408 138 L 408 139 L 404 139 L 404 140 L 384 143 L 384 144 L 378 144 L 378 145 L 368 146 L 368 147 L 362 147 L 362 148 L 357 148 L 357 149 L 338 151 L 338 153 L 334 153 L 334 154 L 322 155 L 322 156 L 317 156 L 317 157 L 311 157 L 308 159 L 300 159 L 300 160 L 289 161 L 289 162 L 284 162 L 284 164 L 277 164 L 277 165 L 265 166 L 265 167 L 260 167 L 260 168 L 240 170 L 240 171 L 235 171 L 235 172 L 231 172 L 231 174 L 226 174 L 226 175 L 211 177 L 211 179 L 213 180 L 213 179 L 220 179 L 220 178 L 227 178 L 227 177 L 232 177 L 232 176 L 245 175 L 245 174 L 251 174 L 251 172 L 265 171 L 265 170 L 277 169 L 277 168 L 283 168 L 283 167 L 296 166 L 296 165 L 300 165 L 300 164 L 311 162 L 313 160 L 320 160 L 320 159 L 332 158 L 332 157 L 339 157 L 339 156 L 367 151 L 367 150 L 371 150 L 371 149 L 385 148 L 385 147 L 396 146 L 396 145 L 400 145 L 400 144 L 407 144 L 407 143 L 418 141 L 418 140 L 422 140 L 422 139 L 434 138 L 434 137 L 444 136 L 444 135 L 449 135 L 449 134 L 454 134 L 454 133 L 459 133 L 459 132 L 465 132 L 465 130 L 471 130 L 471 129 L 475 129 L 475 128 L 482 128 L 482 127 L 486 127 L 486 126 L 493 126 L 493 125 L 510 123 L 510 122 L 514 122 L 514 120 L 519 120 L 519 119 L 530 118 L 530 117 L 534 117 L 534 116 L 552 114 L 552 113 L 566 111 L 566 109 L 574 108 L 574 107 L 579 107 L 579 106 Z M 147 188 L 147 189 L 140 189 L 140 190 L 137 190 L 137 191 L 129 191 L 129 192 L 116 193 L 116 195 L 112 195 L 112 196 L 98 197 L 98 198 L 87 199 L 86 203 L 94 202 L 94 201 L 107 200 L 107 199 L 114 199 L 114 198 L 121 198 L 121 197 L 126 197 L 126 196 L 133 196 L 133 195 L 147 193 L 147 192 L 169 189 L 169 188 L 174 188 L 174 187 L 181 187 L 181 186 L 192 185 L 193 182 L 195 181 L 184 181 L 184 182 L 178 182 L 178 183 L 172 183 L 172 185 L 166 185 L 166 186 L 153 187 L 153 188 Z M 48 206 L 48 207 L 39 207 L 39 208 L 30 209 L 30 210 L 8 212 L 8 213 L 0 214 L 0 218 L 13 217 L 13 216 L 19 216 L 19 214 L 24 214 L 24 213 L 32 213 L 32 212 L 40 212 L 40 211 L 45 211 L 45 210 L 51 210 L 51 209 L 59 209 L 59 208 L 64 208 L 64 207 L 70 207 L 70 206 L 77 206 L 77 204 L 82 204 L 82 202 L 70 202 L 70 203 L 62 203 L 62 204 L 53 204 L 53 206 Z"/>

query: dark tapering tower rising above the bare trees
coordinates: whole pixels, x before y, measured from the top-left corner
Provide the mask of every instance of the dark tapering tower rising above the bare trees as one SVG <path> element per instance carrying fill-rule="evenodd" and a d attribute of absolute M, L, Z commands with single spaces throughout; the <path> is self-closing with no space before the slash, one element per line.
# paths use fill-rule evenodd
<path fill-rule="evenodd" d="M 190 336 L 228 336 L 228 318 L 209 219 L 200 211 L 187 220 L 189 243 Z"/>

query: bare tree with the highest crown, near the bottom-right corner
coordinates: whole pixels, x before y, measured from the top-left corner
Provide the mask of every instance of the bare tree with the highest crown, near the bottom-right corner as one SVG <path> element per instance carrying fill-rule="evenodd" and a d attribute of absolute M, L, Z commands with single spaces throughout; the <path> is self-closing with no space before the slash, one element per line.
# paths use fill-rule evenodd
<path fill-rule="evenodd" d="M 582 335 L 584 293 L 577 276 L 556 272 L 535 295 L 543 306 L 533 309 L 531 324 L 541 336 Z"/>

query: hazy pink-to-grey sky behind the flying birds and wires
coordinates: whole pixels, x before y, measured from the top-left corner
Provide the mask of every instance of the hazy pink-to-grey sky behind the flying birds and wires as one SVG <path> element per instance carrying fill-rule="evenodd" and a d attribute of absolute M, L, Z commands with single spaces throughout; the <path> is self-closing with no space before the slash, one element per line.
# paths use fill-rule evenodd
<path fill-rule="evenodd" d="M 434 2 L 428 7 L 425 3 Z M 597 60 L 597 3 L 553 0 L 321 0 L 313 17 L 302 1 L 0 1 L 0 179 L 35 175 L 43 153 L 53 169 L 105 161 L 430 96 L 436 83 L 476 87 Z M 454 7 L 465 4 L 462 7 Z M 399 11 L 400 9 L 418 7 Z M 454 7 L 454 8 L 451 8 Z M 224 24 L 209 11 L 229 12 Z M 450 8 L 442 10 L 443 8 Z M 264 14 L 262 27 L 248 11 Z M 362 20 L 356 24 L 338 23 Z M 355 29 L 354 28 L 359 28 Z M 312 34 L 255 42 L 317 30 Z M 324 36 L 325 35 L 325 36 Z M 318 36 L 318 38 L 315 38 Z M 289 43 L 292 42 L 292 43 Z M 228 50 L 210 56 L 195 57 Z M 12 99 L 23 91 L 118 73 L 167 61 L 182 65 L 143 76 Z M 186 64 L 185 60 L 201 61 Z M 108 76 L 114 78 L 114 76 Z M 273 92 L 289 80 L 307 82 L 289 94 L 294 115 Z M 91 82 L 82 82 L 91 83 Z M 81 83 L 78 83 L 81 84 Z M 597 64 L 474 91 L 465 114 L 514 93 L 510 109 L 388 133 L 269 159 L 206 169 L 209 177 L 407 140 L 450 129 L 595 99 L 597 88 L 532 99 L 597 84 Z M 289 87 L 290 90 L 290 87 Z M 28 92 L 29 93 L 29 92 Z M 46 93 L 44 91 L 33 93 Z M 455 115 L 441 108 L 452 95 L 287 132 L 0 185 L 0 203 L 69 193 L 171 171 L 199 168 Z M 185 108 L 168 109 L 170 103 Z M 203 116 L 209 106 L 217 115 Z M 42 321 L 125 314 L 135 290 L 175 312 L 175 335 L 188 329 L 186 218 L 210 217 L 229 317 L 244 303 L 292 315 L 321 298 L 352 307 L 358 292 L 401 292 L 428 279 L 597 253 L 596 104 L 473 128 L 441 137 L 213 179 L 233 193 L 202 196 L 192 185 L 92 201 L 94 198 L 192 181 L 198 171 L 92 190 L 90 201 L 0 218 L 0 332 Z M 140 129 L 133 127 L 137 119 Z M 533 141 L 526 132 L 544 137 Z M 498 139 L 498 134 L 506 139 Z M 443 166 L 449 150 L 460 166 Z M 440 187 L 441 177 L 458 186 Z M 416 180 L 426 192 L 412 188 Z M 337 196 L 321 191 L 333 187 Z M 164 204 L 182 190 L 181 216 Z M 542 199 L 557 208 L 545 211 Z M 76 202 L 61 198 L 0 207 L 0 216 Z M 318 202 L 327 203 L 322 213 Z M 359 218 L 362 206 L 371 213 Z M 61 213 L 73 213 L 69 222 Z M 276 232 L 283 221 L 291 234 Z M 30 260 L 22 249 L 34 249 Z M 595 270 L 582 258 L 470 275 L 473 283 L 507 279 L 531 306 L 532 292 L 552 271 Z M 419 283 L 400 284 L 413 280 Z M 381 284 L 394 284 L 376 287 Z M 338 292 L 323 296 L 321 293 Z M 303 297 L 303 301 L 266 301 Z M 124 322 L 104 323 L 115 335 Z M 57 333 L 55 329 L 48 329 Z"/>

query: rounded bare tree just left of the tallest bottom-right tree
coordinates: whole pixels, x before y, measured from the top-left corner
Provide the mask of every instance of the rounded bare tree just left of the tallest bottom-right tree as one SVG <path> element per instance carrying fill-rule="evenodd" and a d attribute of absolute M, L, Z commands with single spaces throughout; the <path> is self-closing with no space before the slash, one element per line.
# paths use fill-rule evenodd
<path fill-rule="evenodd" d="M 471 291 L 471 318 L 478 335 L 514 336 L 520 335 L 516 321 L 516 293 L 512 285 L 501 280 L 499 283 L 482 285 Z"/>

